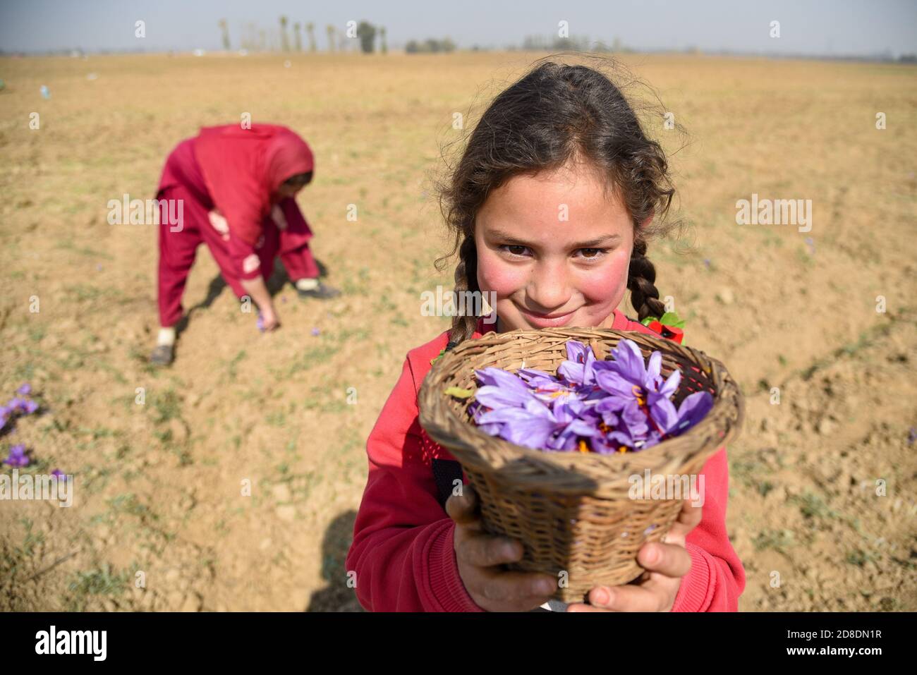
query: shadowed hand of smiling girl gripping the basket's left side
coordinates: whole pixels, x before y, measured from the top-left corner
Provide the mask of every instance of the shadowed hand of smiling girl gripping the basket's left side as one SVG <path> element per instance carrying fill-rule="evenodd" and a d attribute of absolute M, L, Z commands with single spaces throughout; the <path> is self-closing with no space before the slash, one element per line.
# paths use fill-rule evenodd
<path fill-rule="evenodd" d="M 483 532 L 478 495 L 470 485 L 462 486 L 462 496 L 449 496 L 446 513 L 456 524 L 452 545 L 458 560 L 458 575 L 481 609 L 527 612 L 546 603 L 557 590 L 558 580 L 550 574 L 507 571 L 500 567 L 522 559 L 522 544 Z"/>

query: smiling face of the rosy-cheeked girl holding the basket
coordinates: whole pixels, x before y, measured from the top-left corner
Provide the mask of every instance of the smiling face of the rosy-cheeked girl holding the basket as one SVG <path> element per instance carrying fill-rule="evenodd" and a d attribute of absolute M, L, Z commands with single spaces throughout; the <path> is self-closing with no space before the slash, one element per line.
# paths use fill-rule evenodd
<path fill-rule="evenodd" d="M 496 293 L 498 331 L 611 327 L 627 288 L 634 225 L 604 185 L 590 165 L 568 164 L 516 175 L 481 206 L 478 286 Z"/>

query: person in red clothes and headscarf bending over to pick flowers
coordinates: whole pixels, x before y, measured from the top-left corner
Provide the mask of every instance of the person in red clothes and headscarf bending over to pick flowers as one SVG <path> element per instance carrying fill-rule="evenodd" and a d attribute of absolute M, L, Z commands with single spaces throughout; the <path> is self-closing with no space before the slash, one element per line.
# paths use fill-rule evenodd
<path fill-rule="evenodd" d="M 278 253 L 300 295 L 339 293 L 318 281 L 308 244 L 312 230 L 294 199 L 313 169 L 305 141 L 271 124 L 204 127 L 172 150 L 156 195 L 160 335 L 150 360 L 171 363 L 182 291 L 202 242 L 237 297 L 248 295 L 258 305 L 264 330 L 280 326 L 265 284 Z"/>

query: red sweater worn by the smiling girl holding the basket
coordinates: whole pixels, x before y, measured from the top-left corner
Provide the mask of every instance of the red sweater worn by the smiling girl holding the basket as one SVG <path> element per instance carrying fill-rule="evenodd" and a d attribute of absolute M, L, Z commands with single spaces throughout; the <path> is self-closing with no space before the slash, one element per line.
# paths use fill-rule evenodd
<path fill-rule="evenodd" d="M 657 335 L 614 310 L 613 328 Z M 474 338 L 492 329 L 482 321 Z M 458 575 L 455 524 L 438 497 L 432 459 L 455 458 L 423 431 L 417 392 L 447 332 L 412 349 L 367 441 L 370 473 L 354 524 L 347 570 L 356 571 L 359 603 L 370 612 L 482 612 Z M 726 448 L 704 464 L 703 520 L 688 535 L 691 571 L 673 612 L 735 612 L 745 569 L 726 535 Z M 467 482 L 467 478 L 465 479 Z"/>

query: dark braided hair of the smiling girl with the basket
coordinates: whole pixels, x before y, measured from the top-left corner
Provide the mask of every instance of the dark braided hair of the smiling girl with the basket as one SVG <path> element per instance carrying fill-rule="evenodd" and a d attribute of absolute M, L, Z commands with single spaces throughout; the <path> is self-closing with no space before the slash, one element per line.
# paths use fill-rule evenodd
<path fill-rule="evenodd" d="M 458 250 L 455 291 L 480 291 L 474 221 L 487 196 L 516 174 L 556 169 L 582 157 L 607 176 L 634 222 L 627 288 L 639 320 L 661 316 L 665 305 L 655 285 L 656 268 L 646 258 L 646 241 L 681 225 L 667 222 L 675 188 L 666 155 L 657 141 L 646 137 L 634 108 L 608 76 L 598 68 L 558 62 L 557 57 L 536 61 L 492 100 L 458 162 L 436 183 L 440 210 L 455 236 L 452 250 L 436 260 L 436 268 L 442 271 Z M 608 57 L 586 58 L 624 71 Z M 644 109 L 657 114 L 661 127 L 665 111 L 658 98 L 657 105 Z M 666 119 L 671 122 L 671 117 Z M 680 125 L 669 127 L 684 133 Z M 639 227 L 648 216 L 661 217 Z M 474 315 L 454 316 L 449 349 L 470 338 L 476 325 Z"/>

